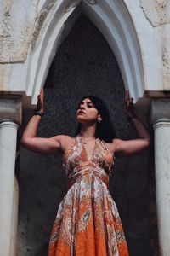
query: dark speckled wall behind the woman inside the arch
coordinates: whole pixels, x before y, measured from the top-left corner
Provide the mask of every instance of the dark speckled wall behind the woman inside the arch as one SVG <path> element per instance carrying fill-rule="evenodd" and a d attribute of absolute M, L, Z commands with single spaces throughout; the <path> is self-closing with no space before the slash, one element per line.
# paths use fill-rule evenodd
<path fill-rule="evenodd" d="M 38 135 L 52 137 L 76 130 L 75 113 L 82 96 L 94 94 L 108 105 L 116 137 L 136 137 L 127 123 L 124 85 L 115 56 L 105 38 L 81 16 L 61 44 L 45 84 L 45 116 Z M 31 113 L 25 113 L 25 124 Z M 116 158 L 111 195 L 121 214 L 132 256 L 150 255 L 148 152 Z M 66 192 L 60 156 L 21 148 L 18 256 L 47 255 L 48 240 Z"/>

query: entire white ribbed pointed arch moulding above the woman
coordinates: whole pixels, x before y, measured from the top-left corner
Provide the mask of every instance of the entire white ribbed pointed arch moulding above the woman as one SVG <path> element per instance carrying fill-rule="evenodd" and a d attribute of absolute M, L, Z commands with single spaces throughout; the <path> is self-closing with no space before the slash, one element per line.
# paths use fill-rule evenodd
<path fill-rule="evenodd" d="M 139 39 L 127 7 L 120 0 L 103 1 L 59 1 L 48 8 L 41 30 L 34 34 L 30 55 L 27 58 L 27 90 L 36 102 L 37 93 L 44 84 L 48 69 L 59 44 L 71 30 L 80 8 L 104 35 L 122 72 L 125 87 L 137 101 L 144 93 L 144 71 Z M 39 15 L 42 19 L 43 13 Z M 39 23 L 38 23 L 39 22 Z M 37 20 L 36 29 L 40 21 Z"/>

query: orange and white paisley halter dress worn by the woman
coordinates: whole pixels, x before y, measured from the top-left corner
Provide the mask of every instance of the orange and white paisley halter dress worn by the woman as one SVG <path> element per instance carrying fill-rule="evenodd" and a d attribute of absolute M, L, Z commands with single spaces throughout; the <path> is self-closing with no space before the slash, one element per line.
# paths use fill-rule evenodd
<path fill-rule="evenodd" d="M 48 256 L 127 256 L 121 219 L 108 190 L 113 154 L 97 138 L 89 160 L 78 135 L 63 160 L 69 189 L 59 205 Z"/>

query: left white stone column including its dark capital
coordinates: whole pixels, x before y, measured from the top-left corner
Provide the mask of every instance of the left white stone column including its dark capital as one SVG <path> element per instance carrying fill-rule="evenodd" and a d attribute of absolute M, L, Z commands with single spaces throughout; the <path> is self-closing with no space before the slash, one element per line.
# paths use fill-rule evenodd
<path fill-rule="evenodd" d="M 20 97 L 0 98 L 0 256 L 16 254 L 18 195 L 14 170 L 20 116 Z"/>

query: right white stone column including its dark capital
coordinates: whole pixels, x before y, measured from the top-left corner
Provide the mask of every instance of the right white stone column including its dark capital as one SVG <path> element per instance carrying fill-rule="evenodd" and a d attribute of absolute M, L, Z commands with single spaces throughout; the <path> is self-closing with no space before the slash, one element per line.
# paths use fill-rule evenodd
<path fill-rule="evenodd" d="M 170 100 L 152 102 L 160 255 L 170 255 Z"/>

